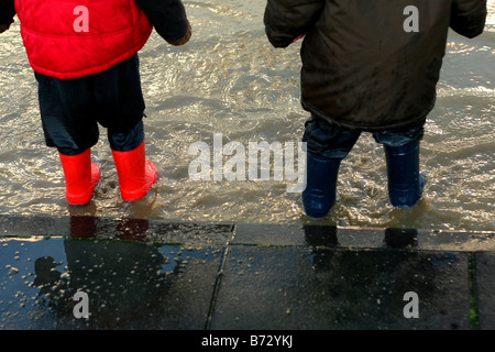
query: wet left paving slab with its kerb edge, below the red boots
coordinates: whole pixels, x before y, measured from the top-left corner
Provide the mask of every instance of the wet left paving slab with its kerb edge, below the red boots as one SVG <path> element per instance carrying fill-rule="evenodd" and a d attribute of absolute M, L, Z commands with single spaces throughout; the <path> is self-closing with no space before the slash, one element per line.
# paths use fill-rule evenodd
<path fill-rule="evenodd" d="M 0 329 L 15 330 L 204 329 L 232 234 L 142 219 L 1 220 Z"/>

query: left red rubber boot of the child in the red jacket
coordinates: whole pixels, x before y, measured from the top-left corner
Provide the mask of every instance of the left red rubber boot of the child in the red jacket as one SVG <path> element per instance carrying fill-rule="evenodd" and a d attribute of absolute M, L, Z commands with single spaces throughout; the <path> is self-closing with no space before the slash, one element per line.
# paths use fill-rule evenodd
<path fill-rule="evenodd" d="M 65 176 L 65 196 L 72 206 L 85 206 L 92 199 L 101 173 L 96 163 L 91 163 L 91 150 L 78 155 L 58 153 Z"/>

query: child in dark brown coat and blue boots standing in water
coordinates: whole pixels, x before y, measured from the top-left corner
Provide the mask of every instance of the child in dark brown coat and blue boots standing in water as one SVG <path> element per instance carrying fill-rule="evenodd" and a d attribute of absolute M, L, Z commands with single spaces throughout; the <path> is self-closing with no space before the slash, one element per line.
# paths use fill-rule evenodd
<path fill-rule="evenodd" d="M 394 207 L 422 196 L 419 141 L 435 106 L 449 26 L 483 32 L 486 0 L 268 0 L 270 42 L 300 50 L 301 105 L 311 113 L 306 215 L 322 218 L 336 201 L 340 162 L 362 132 L 384 145 Z"/>

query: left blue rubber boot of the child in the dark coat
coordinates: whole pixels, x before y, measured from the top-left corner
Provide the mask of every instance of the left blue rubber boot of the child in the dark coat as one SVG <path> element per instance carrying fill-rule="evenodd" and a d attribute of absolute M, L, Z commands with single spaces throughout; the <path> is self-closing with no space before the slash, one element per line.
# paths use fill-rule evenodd
<path fill-rule="evenodd" d="M 302 207 L 308 217 L 326 217 L 336 202 L 340 162 L 339 158 L 307 153 L 307 183 L 302 191 Z"/>

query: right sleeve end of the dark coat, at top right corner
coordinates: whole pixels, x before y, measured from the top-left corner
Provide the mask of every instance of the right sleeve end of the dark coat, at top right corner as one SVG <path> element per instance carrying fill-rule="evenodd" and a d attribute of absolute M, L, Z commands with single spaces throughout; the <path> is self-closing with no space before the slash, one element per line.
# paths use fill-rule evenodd
<path fill-rule="evenodd" d="M 475 37 L 483 33 L 486 14 L 486 0 L 453 0 L 450 28 L 466 37 Z"/>

